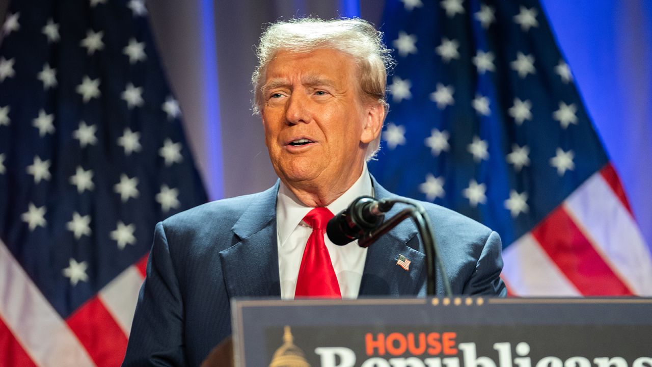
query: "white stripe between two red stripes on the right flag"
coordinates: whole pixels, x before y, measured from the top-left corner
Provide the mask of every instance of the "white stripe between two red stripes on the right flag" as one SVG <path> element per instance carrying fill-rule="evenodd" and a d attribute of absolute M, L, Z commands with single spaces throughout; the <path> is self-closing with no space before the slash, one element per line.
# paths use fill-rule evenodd
<path fill-rule="evenodd" d="M 637 295 L 652 295 L 652 255 L 638 225 L 599 173 L 582 183 L 565 208 L 615 274 Z"/>

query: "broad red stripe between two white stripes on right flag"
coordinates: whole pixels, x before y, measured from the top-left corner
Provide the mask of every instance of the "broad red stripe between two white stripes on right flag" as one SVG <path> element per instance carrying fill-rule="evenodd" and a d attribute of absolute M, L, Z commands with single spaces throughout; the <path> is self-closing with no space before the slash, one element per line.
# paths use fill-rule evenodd
<path fill-rule="evenodd" d="M 532 235 L 582 295 L 632 295 L 563 206 L 539 223 Z"/>

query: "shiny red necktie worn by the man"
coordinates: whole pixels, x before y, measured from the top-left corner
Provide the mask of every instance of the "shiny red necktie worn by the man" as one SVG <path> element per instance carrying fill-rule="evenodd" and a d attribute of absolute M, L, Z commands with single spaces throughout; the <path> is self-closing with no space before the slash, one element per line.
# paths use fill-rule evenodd
<path fill-rule="evenodd" d="M 324 243 L 326 225 L 333 216 L 327 208 L 314 208 L 303 218 L 312 227 L 312 233 L 303 251 L 295 298 L 342 298 L 331 255 Z"/>

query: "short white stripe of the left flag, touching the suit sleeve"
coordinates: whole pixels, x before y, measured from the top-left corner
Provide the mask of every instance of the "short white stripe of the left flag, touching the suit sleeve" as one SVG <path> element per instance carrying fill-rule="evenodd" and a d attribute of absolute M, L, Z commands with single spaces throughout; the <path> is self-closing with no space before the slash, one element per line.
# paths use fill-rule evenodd
<path fill-rule="evenodd" d="M 142 284 L 143 277 L 136 266 L 129 266 L 99 293 L 106 310 L 111 313 L 126 336 L 129 336 Z"/>

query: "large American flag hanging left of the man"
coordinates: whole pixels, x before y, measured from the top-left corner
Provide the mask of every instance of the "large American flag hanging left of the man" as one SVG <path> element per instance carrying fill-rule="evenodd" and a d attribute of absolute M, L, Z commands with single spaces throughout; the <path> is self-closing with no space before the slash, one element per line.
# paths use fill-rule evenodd
<path fill-rule="evenodd" d="M 118 366 L 157 221 L 206 201 L 141 0 L 12 1 L 0 366 Z"/>

